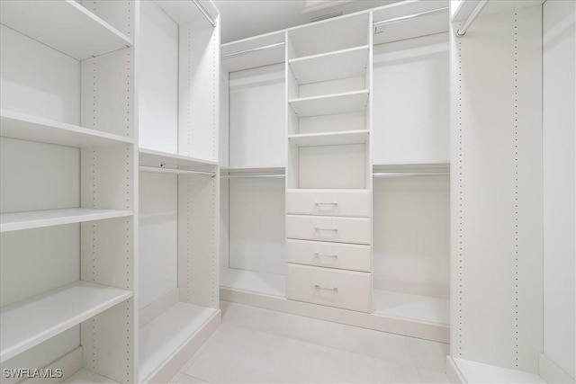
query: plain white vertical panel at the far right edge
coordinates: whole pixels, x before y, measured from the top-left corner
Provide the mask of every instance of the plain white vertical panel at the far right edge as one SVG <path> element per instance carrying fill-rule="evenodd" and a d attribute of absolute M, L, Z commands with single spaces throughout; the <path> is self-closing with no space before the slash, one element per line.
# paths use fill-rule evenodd
<path fill-rule="evenodd" d="M 576 378 L 576 4 L 544 4 L 544 353 Z"/>

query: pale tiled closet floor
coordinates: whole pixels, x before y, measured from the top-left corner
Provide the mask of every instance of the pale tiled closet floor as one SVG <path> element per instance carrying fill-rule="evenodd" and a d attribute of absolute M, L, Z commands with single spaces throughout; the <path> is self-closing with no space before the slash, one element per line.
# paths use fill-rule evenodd
<path fill-rule="evenodd" d="M 448 345 L 222 301 L 222 325 L 171 383 L 447 383 Z"/>

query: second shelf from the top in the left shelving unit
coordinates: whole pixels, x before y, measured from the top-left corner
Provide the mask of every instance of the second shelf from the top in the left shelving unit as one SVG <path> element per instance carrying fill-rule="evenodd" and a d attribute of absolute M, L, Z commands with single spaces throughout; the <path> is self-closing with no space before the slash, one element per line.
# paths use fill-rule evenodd
<path fill-rule="evenodd" d="M 132 138 L 6 110 L 0 110 L 0 136 L 67 147 L 134 143 Z"/>

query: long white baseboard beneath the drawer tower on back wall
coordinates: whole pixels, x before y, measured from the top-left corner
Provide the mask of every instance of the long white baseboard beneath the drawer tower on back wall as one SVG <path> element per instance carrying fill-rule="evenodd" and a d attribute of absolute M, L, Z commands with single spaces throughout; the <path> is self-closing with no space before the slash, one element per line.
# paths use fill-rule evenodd
<path fill-rule="evenodd" d="M 247 290 L 234 290 L 220 287 L 220 299 L 237 302 L 257 308 L 272 309 L 305 317 L 319 318 L 349 326 L 360 326 L 398 335 L 418 337 L 440 343 L 450 342 L 450 328 L 445 325 L 425 321 L 387 317 L 353 310 L 332 308 L 316 304 L 284 299 Z"/>

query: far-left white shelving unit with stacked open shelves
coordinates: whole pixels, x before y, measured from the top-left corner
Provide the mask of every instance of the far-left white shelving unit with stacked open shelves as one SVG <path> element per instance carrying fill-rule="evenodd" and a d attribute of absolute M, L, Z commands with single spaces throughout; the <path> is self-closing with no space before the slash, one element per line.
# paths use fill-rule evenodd
<path fill-rule="evenodd" d="M 1 5 L 3 369 L 136 380 L 137 9 Z"/>

